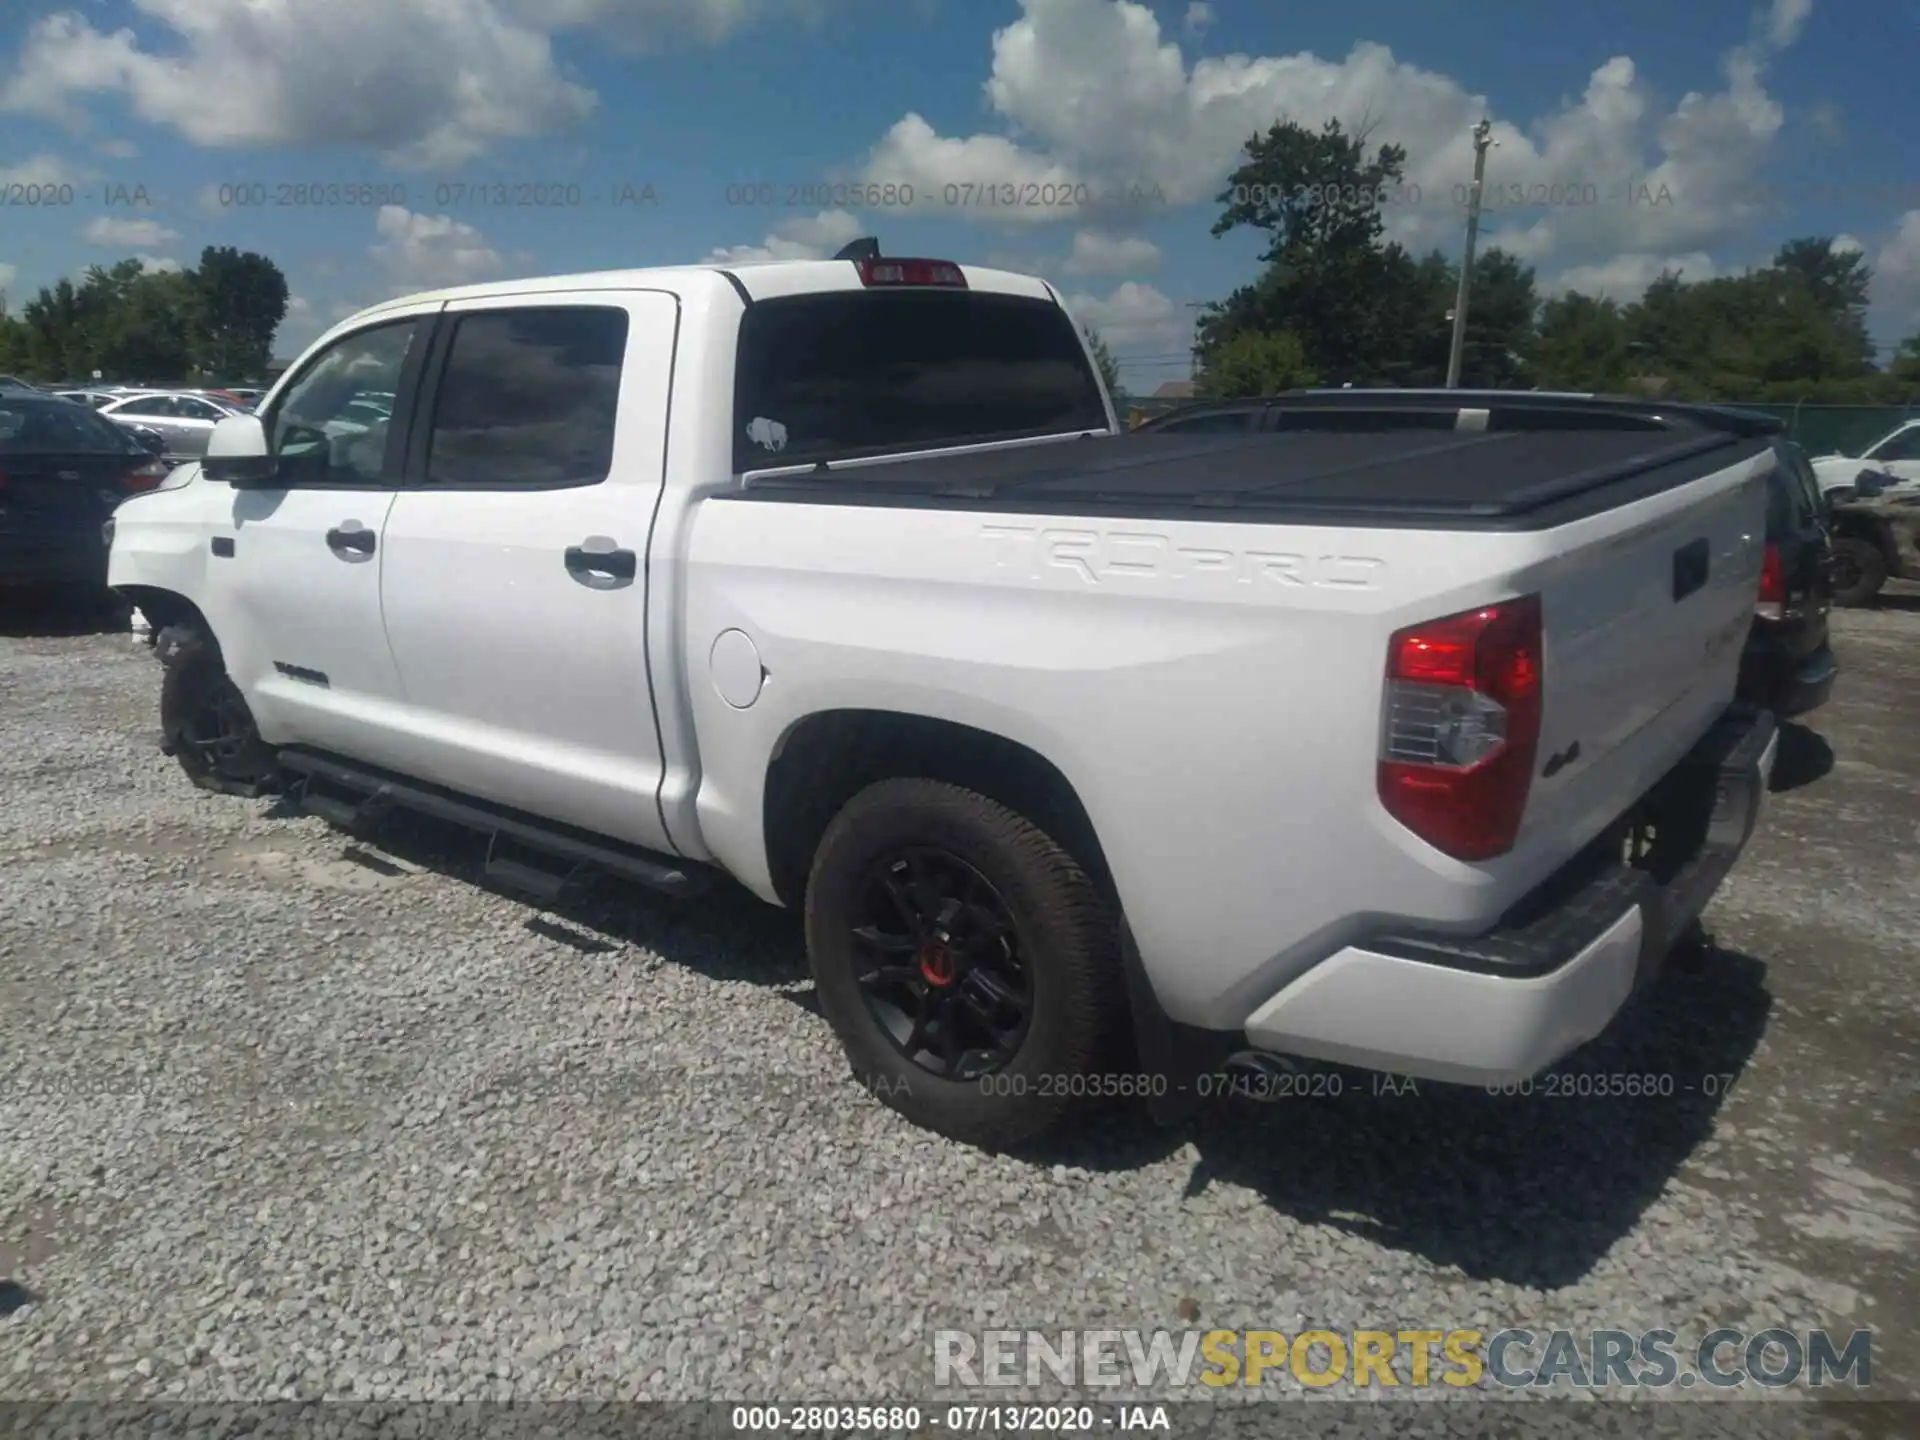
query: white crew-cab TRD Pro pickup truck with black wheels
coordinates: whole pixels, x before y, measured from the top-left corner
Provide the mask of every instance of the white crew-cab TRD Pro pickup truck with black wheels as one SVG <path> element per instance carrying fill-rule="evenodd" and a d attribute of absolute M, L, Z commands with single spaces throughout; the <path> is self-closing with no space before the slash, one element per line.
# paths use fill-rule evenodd
<path fill-rule="evenodd" d="M 1768 422 L 1334 392 L 1117 434 L 1044 282 L 872 250 L 323 336 L 111 526 L 186 776 L 449 816 L 536 895 L 732 874 L 804 910 L 854 1073 L 981 1144 L 1597 1035 L 1766 789 Z"/>

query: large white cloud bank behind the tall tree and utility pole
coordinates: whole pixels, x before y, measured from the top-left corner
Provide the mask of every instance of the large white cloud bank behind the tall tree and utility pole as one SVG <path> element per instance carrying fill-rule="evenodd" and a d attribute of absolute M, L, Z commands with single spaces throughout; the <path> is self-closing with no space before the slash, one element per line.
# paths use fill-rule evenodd
<path fill-rule="evenodd" d="M 1212 202 L 1250 134 L 1279 117 L 1315 129 L 1338 119 L 1350 131 L 1371 127 L 1373 144 L 1407 148 L 1407 194 L 1419 186 L 1419 204 L 1392 209 L 1396 238 L 1452 248 L 1461 225 L 1453 200 L 1473 173 L 1469 131 L 1492 113 L 1490 194 L 1548 204 L 1492 204 L 1486 238 L 1561 267 L 1688 253 L 1740 236 L 1764 213 L 1757 179 L 1784 123 L 1764 67 L 1809 13 L 1809 0 L 1776 0 L 1753 36 L 1724 56 L 1716 90 L 1667 108 L 1634 61 L 1615 56 L 1594 67 L 1576 100 L 1519 125 L 1486 96 L 1382 44 L 1359 42 L 1344 60 L 1300 52 L 1188 63 L 1135 0 L 1020 4 L 1020 19 L 993 36 L 985 83 L 1004 132 L 943 136 L 906 115 L 876 146 L 870 179 L 912 180 L 929 194 L 956 180 L 1087 182 L 1108 194 L 1158 186 L 1173 204 Z M 1640 184 L 1659 204 L 1628 204 Z M 973 213 L 1085 219 L 1060 209 Z"/>

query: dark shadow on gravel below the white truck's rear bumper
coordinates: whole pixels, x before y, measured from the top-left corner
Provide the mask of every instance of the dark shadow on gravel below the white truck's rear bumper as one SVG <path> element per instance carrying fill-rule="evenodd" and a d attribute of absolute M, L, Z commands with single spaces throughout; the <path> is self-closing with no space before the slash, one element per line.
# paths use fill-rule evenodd
<path fill-rule="evenodd" d="M 1515 1094 L 1325 1069 L 1309 1098 L 1215 1104 L 1185 1137 L 1200 1152 L 1188 1188 L 1244 1185 L 1473 1279 L 1574 1284 L 1711 1137 L 1766 1029 L 1764 972 L 1720 948 L 1674 966 Z M 1056 1164 L 1106 1167 L 1075 1150 Z"/>

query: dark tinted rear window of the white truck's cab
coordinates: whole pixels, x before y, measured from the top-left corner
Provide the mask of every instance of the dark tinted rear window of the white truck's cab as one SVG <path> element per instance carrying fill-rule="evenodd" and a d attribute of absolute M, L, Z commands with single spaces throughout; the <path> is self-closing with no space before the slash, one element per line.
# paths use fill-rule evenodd
<path fill-rule="evenodd" d="M 975 290 L 756 301 L 741 321 L 733 468 L 1106 430 L 1068 313 Z"/>

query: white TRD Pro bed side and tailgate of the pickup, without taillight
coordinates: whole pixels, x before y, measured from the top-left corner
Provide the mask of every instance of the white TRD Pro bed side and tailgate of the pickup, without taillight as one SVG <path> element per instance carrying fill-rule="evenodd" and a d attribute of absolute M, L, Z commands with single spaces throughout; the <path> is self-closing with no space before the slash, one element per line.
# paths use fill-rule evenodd
<path fill-rule="evenodd" d="M 843 478 L 708 497 L 685 553 L 703 839 L 772 895 L 762 781 L 810 714 L 1002 735 L 1075 787 L 1167 1012 L 1238 1025 L 1373 927 L 1492 924 L 1688 751 L 1734 695 L 1768 463 L 1759 444 L 1720 447 L 1530 526 L 1046 509 L 1031 492 L 929 497 L 924 474 L 891 493 Z M 1676 599 L 1680 551 L 1707 564 Z M 1524 593 L 1546 612 L 1540 758 L 1561 758 L 1513 851 L 1465 864 L 1377 797 L 1388 639 Z M 710 678 L 728 630 L 766 672 L 749 708 Z"/>

